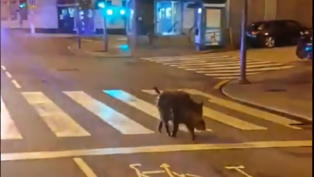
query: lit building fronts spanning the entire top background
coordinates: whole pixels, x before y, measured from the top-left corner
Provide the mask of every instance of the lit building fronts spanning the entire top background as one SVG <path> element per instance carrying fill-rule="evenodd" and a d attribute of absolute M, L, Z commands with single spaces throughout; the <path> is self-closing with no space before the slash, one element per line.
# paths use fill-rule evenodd
<path fill-rule="evenodd" d="M 248 23 L 291 19 L 312 27 L 313 0 L 248 2 Z M 124 16 L 107 16 L 108 33 L 127 33 L 130 40 L 138 39 L 136 45 L 195 47 L 195 43 L 201 42 L 224 47 L 239 44 L 244 0 L 107 0 L 107 3 L 126 10 Z M 35 31 L 75 33 L 77 9 L 76 0 L 36 0 Z M 88 19 L 86 23 L 91 24 L 93 31 L 102 33 L 104 12 L 101 9 L 79 14 Z M 18 0 L 1 0 L 1 21 L 22 19 L 27 24 L 28 15 L 27 7 L 19 9 Z M 200 25 L 204 27 L 199 28 Z"/>

